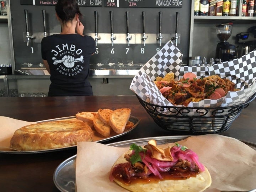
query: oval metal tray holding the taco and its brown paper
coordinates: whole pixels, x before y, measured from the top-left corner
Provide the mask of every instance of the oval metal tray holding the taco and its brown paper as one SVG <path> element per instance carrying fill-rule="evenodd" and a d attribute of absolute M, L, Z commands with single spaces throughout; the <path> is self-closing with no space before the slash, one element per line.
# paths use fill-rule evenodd
<path fill-rule="evenodd" d="M 158 145 L 166 144 L 166 143 L 174 143 L 180 140 L 183 140 L 191 135 L 181 135 L 181 136 L 165 136 L 165 137 L 148 137 L 148 138 L 140 138 L 140 139 L 132 139 L 126 140 L 122 142 L 110 143 L 106 144 L 109 146 L 116 147 L 129 147 L 132 143 L 137 145 L 145 145 L 148 143 L 150 139 L 155 139 Z M 256 150 L 256 144 L 240 140 L 241 142 L 247 144 L 254 150 Z M 76 155 L 71 156 L 70 158 L 63 161 L 54 171 L 53 181 L 55 186 L 61 192 L 75 192 L 75 167 L 76 167 Z"/>

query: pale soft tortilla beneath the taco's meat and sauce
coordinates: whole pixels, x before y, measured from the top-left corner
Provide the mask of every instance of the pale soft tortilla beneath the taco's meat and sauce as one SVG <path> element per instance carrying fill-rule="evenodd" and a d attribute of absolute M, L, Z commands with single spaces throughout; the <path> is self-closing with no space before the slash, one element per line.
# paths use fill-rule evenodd
<path fill-rule="evenodd" d="M 125 154 L 129 154 L 128 151 Z M 127 162 L 124 158 L 124 154 L 121 155 L 114 163 L 113 167 L 119 163 Z M 113 168 L 112 167 L 112 168 Z M 121 187 L 132 192 L 202 192 L 206 190 L 212 183 L 212 178 L 208 169 L 199 173 L 196 177 L 190 177 L 186 180 L 165 180 L 159 183 L 135 183 L 131 185 L 125 185 L 122 182 L 114 180 Z"/>

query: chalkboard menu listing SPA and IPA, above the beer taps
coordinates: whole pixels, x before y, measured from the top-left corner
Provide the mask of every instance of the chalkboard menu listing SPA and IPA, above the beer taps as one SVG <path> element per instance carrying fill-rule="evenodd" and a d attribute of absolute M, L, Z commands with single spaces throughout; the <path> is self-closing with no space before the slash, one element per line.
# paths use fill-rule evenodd
<path fill-rule="evenodd" d="M 182 7 L 182 0 L 105 0 L 106 7 Z"/>

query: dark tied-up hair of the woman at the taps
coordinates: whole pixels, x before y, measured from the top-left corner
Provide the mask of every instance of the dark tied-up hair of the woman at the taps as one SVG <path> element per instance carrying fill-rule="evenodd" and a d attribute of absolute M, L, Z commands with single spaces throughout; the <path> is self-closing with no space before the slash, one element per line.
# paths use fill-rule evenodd
<path fill-rule="evenodd" d="M 75 14 L 78 14 L 79 17 L 82 16 L 79 6 L 76 3 L 76 0 L 58 0 L 55 11 L 58 17 L 65 23 L 67 21 L 73 20 Z"/>

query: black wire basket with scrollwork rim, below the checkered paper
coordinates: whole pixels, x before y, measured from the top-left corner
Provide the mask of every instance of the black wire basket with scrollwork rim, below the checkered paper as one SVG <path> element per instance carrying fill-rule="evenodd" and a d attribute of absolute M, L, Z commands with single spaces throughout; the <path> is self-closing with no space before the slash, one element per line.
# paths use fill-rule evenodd
<path fill-rule="evenodd" d="M 159 106 L 136 96 L 146 112 L 161 128 L 192 134 L 209 134 L 228 130 L 241 111 L 255 99 L 256 93 L 246 102 L 230 107 Z"/>

